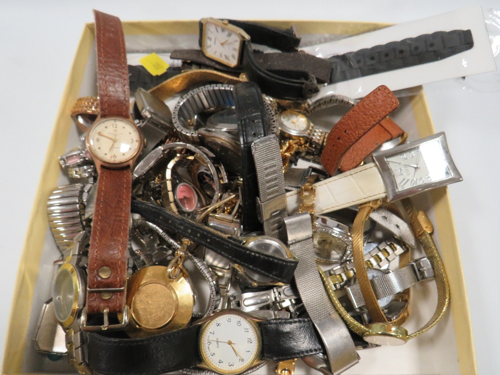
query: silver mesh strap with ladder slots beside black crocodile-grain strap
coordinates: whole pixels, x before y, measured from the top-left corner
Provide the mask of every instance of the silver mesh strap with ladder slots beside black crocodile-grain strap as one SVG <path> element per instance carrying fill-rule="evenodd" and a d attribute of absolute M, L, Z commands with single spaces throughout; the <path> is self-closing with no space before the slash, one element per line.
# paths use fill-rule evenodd
<path fill-rule="evenodd" d="M 274 135 L 258 138 L 251 144 L 251 151 L 258 182 L 257 212 L 264 232 L 284 240 L 283 219 L 287 211 L 278 140 Z"/>

